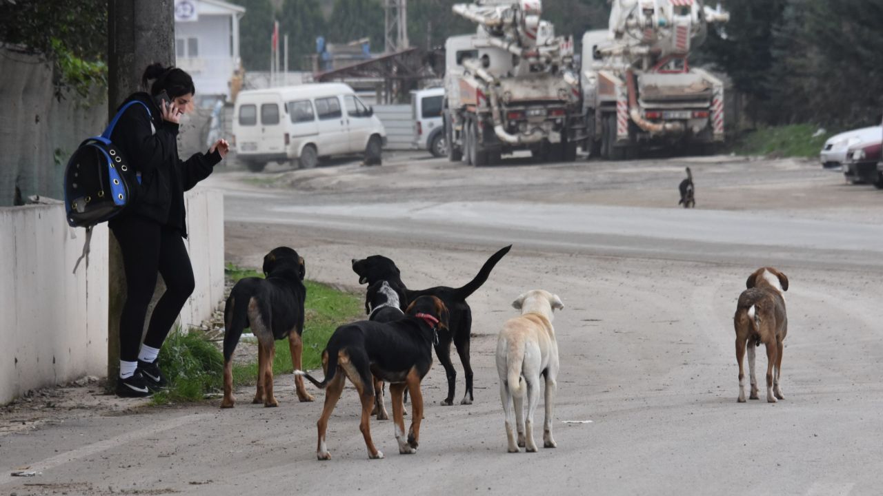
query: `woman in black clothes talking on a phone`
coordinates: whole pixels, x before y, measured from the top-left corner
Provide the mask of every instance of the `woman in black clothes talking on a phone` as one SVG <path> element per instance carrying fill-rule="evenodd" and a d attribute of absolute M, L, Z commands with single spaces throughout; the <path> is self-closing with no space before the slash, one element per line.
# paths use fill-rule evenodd
<path fill-rule="evenodd" d="M 109 222 L 123 252 L 127 290 L 119 319 L 118 396 L 147 396 L 166 385 L 156 357 L 194 286 L 183 239 L 187 237 L 184 192 L 208 177 L 229 150 L 227 141 L 218 139 L 208 154 L 178 159 L 178 124 L 193 109 L 193 79 L 177 67 L 153 64 L 141 79 L 145 88 L 151 81 L 149 94 L 135 93 L 125 101 L 144 102 L 149 114 L 144 106 L 132 105 L 110 136 L 140 181 L 130 211 Z M 156 274 L 162 274 L 166 291 L 156 303 L 141 343 Z"/>

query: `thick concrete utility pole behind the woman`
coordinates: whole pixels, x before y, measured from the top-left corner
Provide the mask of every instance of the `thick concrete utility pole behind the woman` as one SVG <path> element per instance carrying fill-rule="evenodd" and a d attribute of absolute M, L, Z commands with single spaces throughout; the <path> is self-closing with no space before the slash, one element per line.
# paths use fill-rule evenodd
<path fill-rule="evenodd" d="M 108 118 L 129 94 L 141 89 L 144 70 L 155 62 L 175 63 L 175 0 L 108 0 Z M 125 302 L 123 256 L 112 232 L 109 263 L 108 387 L 112 388 L 119 375 L 119 316 Z"/>

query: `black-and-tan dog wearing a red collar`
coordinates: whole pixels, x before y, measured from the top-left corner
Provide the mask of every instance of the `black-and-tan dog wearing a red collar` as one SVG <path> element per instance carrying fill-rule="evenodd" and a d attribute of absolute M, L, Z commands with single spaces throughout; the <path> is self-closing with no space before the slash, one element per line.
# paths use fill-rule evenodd
<path fill-rule="evenodd" d="M 313 379 L 310 374 L 295 371 L 316 387 L 326 389 L 325 406 L 316 426 L 319 442 L 316 457 L 330 460 L 325 445 L 328 417 L 343 393 L 344 380 L 349 378 L 358 390 L 362 403 L 359 430 L 365 437 L 368 458 L 383 458 L 371 439 L 371 409 L 374 407 L 374 377 L 389 382 L 392 395 L 392 417 L 396 424 L 398 452 L 417 452 L 420 439 L 420 421 L 423 419 L 423 395 L 420 381 L 433 364 L 433 343 L 438 333 L 448 327 L 448 309 L 437 297 L 418 297 L 408 306 L 403 319 L 393 322 L 362 320 L 337 327 L 328 346 L 322 351 L 322 370 L 325 380 Z M 411 393 L 411 429 L 404 435 L 402 394 Z"/>

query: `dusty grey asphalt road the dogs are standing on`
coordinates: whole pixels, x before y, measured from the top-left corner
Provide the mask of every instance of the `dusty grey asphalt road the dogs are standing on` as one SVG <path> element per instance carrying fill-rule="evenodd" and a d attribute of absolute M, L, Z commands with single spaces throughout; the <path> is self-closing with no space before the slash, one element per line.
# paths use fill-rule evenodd
<path fill-rule="evenodd" d="M 675 207 L 683 166 L 696 210 Z M 814 162 L 736 158 L 465 168 L 405 154 L 380 168 L 231 171 L 227 259 L 295 247 L 313 280 L 358 288 L 349 260 L 384 254 L 411 288 L 467 282 L 476 401 L 442 407 L 435 364 L 416 455 L 369 461 L 350 387 L 315 459 L 317 402 L 276 378 L 280 408 L 218 401 L 72 417 L 0 437 L 0 493 L 878 494 L 883 487 L 883 193 Z M 268 188 L 272 185 L 273 188 Z M 732 315 L 745 278 L 789 276 L 785 400 L 736 403 Z M 555 449 L 506 453 L 495 335 L 527 289 L 558 294 Z M 307 324 L 307 331 L 309 326 Z M 463 393 L 462 369 L 457 395 Z M 766 355 L 758 352 L 763 382 Z M 320 372 L 321 374 L 321 372 Z M 535 421 L 542 422 L 542 410 Z M 9 469 L 9 470 L 7 470 Z M 42 485 L 25 485 L 39 483 Z"/>

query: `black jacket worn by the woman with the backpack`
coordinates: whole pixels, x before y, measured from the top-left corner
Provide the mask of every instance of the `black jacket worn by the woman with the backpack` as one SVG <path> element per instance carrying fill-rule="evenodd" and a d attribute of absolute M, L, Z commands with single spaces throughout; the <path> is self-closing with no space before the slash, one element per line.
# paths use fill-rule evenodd
<path fill-rule="evenodd" d="M 141 105 L 132 105 L 120 116 L 110 141 L 123 152 L 141 175 L 138 197 L 131 210 L 109 222 L 114 228 L 129 215 L 147 217 L 162 226 L 177 229 L 187 237 L 184 192 L 212 173 L 221 154 L 194 154 L 186 161 L 177 157 L 178 125 L 162 120 L 162 113 L 147 93 L 132 94 L 126 102 L 147 103 L 150 115 Z M 122 105 L 120 106 L 122 107 Z"/>

